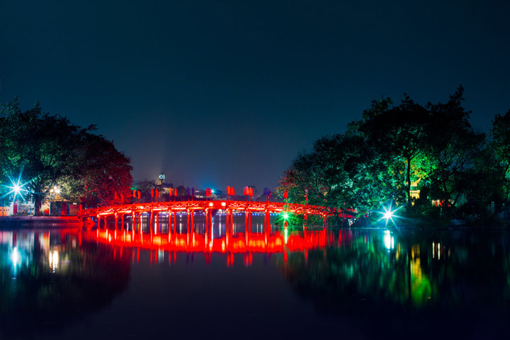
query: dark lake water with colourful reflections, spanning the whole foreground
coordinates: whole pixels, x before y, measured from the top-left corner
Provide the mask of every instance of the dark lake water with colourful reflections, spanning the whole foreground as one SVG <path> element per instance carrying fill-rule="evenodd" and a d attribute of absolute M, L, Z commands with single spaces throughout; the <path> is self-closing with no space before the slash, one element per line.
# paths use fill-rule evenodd
<path fill-rule="evenodd" d="M 507 231 L 256 225 L 0 231 L 0 339 L 510 336 Z"/>

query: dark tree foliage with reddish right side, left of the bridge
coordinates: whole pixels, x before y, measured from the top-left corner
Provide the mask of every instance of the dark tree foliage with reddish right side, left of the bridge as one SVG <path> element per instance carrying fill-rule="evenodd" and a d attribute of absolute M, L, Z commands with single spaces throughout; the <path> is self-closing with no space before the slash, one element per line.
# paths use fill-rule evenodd
<path fill-rule="evenodd" d="M 60 115 L 42 113 L 39 103 L 22 112 L 17 98 L 1 107 L 0 179 L 8 185 L 21 176 L 36 211 L 50 190 L 91 205 L 111 202 L 115 192 L 129 195 L 129 158 L 113 142 Z"/>

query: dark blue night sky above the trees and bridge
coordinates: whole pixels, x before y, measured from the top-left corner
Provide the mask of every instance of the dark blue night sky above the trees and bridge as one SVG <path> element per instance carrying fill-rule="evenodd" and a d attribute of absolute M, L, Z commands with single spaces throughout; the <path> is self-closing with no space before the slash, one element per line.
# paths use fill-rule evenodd
<path fill-rule="evenodd" d="M 0 0 L 0 101 L 98 125 L 135 180 L 274 187 L 370 101 L 510 109 L 510 1 Z"/>

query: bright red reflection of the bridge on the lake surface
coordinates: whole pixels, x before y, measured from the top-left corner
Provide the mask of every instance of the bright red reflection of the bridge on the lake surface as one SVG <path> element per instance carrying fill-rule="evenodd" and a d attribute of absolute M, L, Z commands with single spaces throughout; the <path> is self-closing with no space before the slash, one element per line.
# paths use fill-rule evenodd
<path fill-rule="evenodd" d="M 238 225 L 239 228 L 236 225 L 227 228 L 220 222 L 215 225 L 213 220 L 210 228 L 196 223 L 194 227 L 186 229 L 183 229 L 182 223 L 177 223 L 172 228 L 168 222 L 157 222 L 157 219 L 155 221 L 152 225 L 142 222 L 135 227 L 128 223 L 122 229 L 89 227 L 83 235 L 87 242 L 111 244 L 120 246 L 121 249 L 125 247 L 137 249 L 138 251 L 132 253 L 133 261 L 140 260 L 141 250 L 154 251 L 156 262 L 159 261 L 157 253 L 162 251 L 169 253 L 169 261 L 172 261 L 172 253 L 176 261 L 177 253 L 202 252 L 205 254 L 206 263 L 210 263 L 213 253 L 227 254 L 228 266 L 234 263 L 234 254 L 244 254 L 244 264 L 251 265 L 253 253 L 283 253 L 284 260 L 287 261 L 288 252 L 302 251 L 307 258 L 308 250 L 322 248 L 327 244 L 327 229 L 324 228 L 309 230 L 303 227 L 302 231 L 289 232 L 288 227 L 283 227 L 282 230 L 271 232 L 271 229 L 262 229 L 257 225 L 256 229 L 260 231 L 254 232 L 250 225 L 246 228 L 242 225 Z M 240 231 L 237 231 L 238 229 Z"/>

